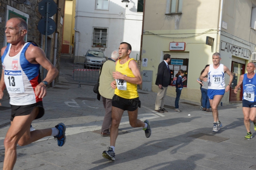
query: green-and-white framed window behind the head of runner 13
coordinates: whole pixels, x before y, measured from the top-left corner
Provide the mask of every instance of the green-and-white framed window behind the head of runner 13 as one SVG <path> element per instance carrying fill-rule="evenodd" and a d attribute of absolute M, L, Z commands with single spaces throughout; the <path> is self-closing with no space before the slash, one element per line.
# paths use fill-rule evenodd
<path fill-rule="evenodd" d="M 20 10 L 17 10 L 16 8 L 13 8 L 9 5 L 7 5 L 7 8 L 6 8 L 6 15 L 5 15 L 5 21 L 8 21 L 9 19 L 11 18 L 22 18 L 24 19 L 27 24 L 28 24 L 28 18 L 29 18 L 29 15 L 20 11 Z M 28 34 L 27 34 L 28 35 Z M 25 41 L 27 42 L 27 35 L 25 37 Z M 6 37 L 4 36 L 4 45 L 6 46 L 7 45 L 7 41 L 6 41 Z"/>

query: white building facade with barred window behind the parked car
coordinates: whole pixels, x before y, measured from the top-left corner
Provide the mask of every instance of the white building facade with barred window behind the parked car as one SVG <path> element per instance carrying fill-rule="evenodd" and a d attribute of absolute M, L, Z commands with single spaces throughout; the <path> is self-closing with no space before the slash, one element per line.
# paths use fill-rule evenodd
<path fill-rule="evenodd" d="M 111 57 L 123 41 L 132 46 L 130 56 L 139 60 L 143 1 L 139 2 L 76 0 L 74 62 L 84 62 L 89 49 L 102 50 Z"/>

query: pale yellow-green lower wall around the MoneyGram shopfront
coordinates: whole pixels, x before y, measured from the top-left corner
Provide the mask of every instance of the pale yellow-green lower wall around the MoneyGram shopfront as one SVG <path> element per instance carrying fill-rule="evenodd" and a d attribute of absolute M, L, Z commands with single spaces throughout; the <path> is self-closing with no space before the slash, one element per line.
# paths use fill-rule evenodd
<path fill-rule="evenodd" d="M 187 37 L 191 32 L 205 32 L 209 29 L 202 30 L 172 30 L 171 32 L 176 34 L 172 35 L 175 37 Z M 152 31 L 161 34 L 162 36 L 168 36 L 165 31 Z M 177 34 L 179 33 L 179 34 Z M 163 61 L 163 55 L 165 53 L 171 54 L 171 58 L 188 58 L 188 87 L 184 88 L 181 93 L 182 99 L 191 100 L 194 102 L 200 102 L 201 91 L 199 83 L 196 81 L 199 78 L 201 71 L 204 69 L 205 65 L 212 64 L 212 54 L 216 51 L 216 46 L 209 46 L 205 44 L 206 36 L 210 36 L 214 39 L 217 38 L 217 31 L 212 31 L 205 33 L 200 36 L 187 39 L 168 39 L 162 38 L 156 35 L 145 35 L 143 36 L 142 45 L 142 60 L 143 58 L 148 58 L 148 67 L 141 67 L 141 72 L 143 70 L 153 71 L 153 81 L 152 81 L 152 91 L 157 92 L 156 75 L 157 69 L 160 62 Z M 170 42 L 185 42 L 186 49 L 184 52 L 175 52 L 169 50 Z M 186 54 L 186 55 L 185 55 Z M 175 87 L 168 87 L 167 95 L 176 96 Z"/>

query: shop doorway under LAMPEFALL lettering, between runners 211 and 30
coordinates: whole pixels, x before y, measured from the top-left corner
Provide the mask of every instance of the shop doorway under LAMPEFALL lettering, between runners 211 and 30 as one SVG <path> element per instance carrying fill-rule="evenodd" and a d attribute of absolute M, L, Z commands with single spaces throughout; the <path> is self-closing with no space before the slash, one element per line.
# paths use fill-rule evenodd
<path fill-rule="evenodd" d="M 231 72 L 234 75 L 233 81 L 231 83 L 231 89 L 229 93 L 229 101 L 242 101 L 243 100 L 243 86 L 237 91 L 237 94 L 234 93 L 234 89 L 239 81 L 240 75 L 244 74 L 245 64 L 238 63 L 236 61 L 232 61 Z"/>

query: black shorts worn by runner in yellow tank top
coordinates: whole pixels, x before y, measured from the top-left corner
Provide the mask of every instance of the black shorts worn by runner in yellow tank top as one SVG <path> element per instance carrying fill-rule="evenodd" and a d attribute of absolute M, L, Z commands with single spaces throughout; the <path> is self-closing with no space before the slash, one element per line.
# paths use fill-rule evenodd
<path fill-rule="evenodd" d="M 115 94 L 112 98 L 112 106 L 122 110 L 134 111 L 138 107 L 140 108 L 140 100 L 139 97 L 134 99 L 125 99 Z"/>

